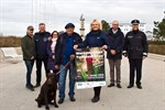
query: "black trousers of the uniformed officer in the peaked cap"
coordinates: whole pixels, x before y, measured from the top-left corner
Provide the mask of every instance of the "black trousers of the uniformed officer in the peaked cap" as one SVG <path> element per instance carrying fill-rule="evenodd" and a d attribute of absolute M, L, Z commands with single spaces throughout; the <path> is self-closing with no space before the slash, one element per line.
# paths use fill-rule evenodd
<path fill-rule="evenodd" d="M 129 59 L 130 63 L 130 85 L 134 85 L 134 75 L 136 72 L 136 85 L 141 85 L 143 59 Z"/>

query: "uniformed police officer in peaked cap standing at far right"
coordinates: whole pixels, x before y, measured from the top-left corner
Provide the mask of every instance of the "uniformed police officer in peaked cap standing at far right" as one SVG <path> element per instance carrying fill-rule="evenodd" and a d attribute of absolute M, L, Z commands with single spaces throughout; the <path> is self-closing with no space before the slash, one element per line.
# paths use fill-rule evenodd
<path fill-rule="evenodd" d="M 128 88 L 134 86 L 134 75 L 136 72 L 136 86 L 142 89 L 142 62 L 147 56 L 147 41 L 146 35 L 139 30 L 139 20 L 132 20 L 132 31 L 128 32 L 124 40 L 123 55 L 128 56 L 130 63 L 130 85 Z"/>

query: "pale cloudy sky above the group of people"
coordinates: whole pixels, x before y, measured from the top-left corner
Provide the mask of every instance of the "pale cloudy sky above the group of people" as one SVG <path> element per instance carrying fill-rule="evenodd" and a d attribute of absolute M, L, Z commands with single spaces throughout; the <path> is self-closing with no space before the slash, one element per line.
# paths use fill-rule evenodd
<path fill-rule="evenodd" d="M 47 31 L 62 31 L 68 22 L 79 32 L 80 14 L 85 15 L 86 33 L 94 19 L 128 23 L 139 19 L 152 31 L 153 21 L 164 16 L 165 0 L 0 0 L 0 32 L 23 36 L 28 25 L 45 22 Z"/>

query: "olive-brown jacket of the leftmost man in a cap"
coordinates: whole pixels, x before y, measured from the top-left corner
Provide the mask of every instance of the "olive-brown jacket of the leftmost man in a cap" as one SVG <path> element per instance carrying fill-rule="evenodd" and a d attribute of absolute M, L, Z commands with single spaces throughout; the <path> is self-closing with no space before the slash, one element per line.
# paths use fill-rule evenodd
<path fill-rule="evenodd" d="M 35 57 L 35 44 L 34 38 L 30 35 L 25 35 L 21 38 L 21 48 L 23 52 L 23 59 L 31 59 L 32 56 Z"/>

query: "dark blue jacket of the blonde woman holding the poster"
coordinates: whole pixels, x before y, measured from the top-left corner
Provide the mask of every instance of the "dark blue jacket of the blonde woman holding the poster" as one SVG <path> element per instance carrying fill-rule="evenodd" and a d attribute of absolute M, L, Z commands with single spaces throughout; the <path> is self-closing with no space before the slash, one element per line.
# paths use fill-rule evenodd
<path fill-rule="evenodd" d="M 109 46 L 108 37 L 102 31 L 91 31 L 87 34 L 84 43 L 78 44 L 79 48 L 84 47 L 101 47 L 103 45 Z"/>

